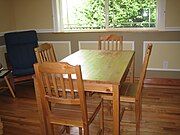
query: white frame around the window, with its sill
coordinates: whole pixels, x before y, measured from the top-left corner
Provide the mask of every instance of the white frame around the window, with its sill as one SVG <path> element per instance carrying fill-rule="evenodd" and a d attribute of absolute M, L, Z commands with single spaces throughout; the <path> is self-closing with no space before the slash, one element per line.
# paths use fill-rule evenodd
<path fill-rule="evenodd" d="M 107 0 L 105 0 L 107 1 Z M 62 20 L 62 9 L 61 7 L 62 3 L 61 0 L 52 0 L 52 12 L 53 12 L 53 29 L 55 32 L 73 32 L 73 31 L 129 31 L 129 30 L 159 30 L 164 31 L 165 30 L 165 9 L 166 9 L 166 0 L 157 0 L 157 23 L 156 27 L 154 28 L 108 28 L 108 22 L 106 21 L 106 28 L 105 29 L 92 29 L 92 30 L 64 30 L 63 27 L 63 20 Z M 108 6 L 106 4 L 105 6 Z M 107 8 L 108 9 L 108 8 Z M 108 11 L 105 11 L 106 13 Z M 108 15 L 105 16 L 105 19 L 108 19 Z"/>

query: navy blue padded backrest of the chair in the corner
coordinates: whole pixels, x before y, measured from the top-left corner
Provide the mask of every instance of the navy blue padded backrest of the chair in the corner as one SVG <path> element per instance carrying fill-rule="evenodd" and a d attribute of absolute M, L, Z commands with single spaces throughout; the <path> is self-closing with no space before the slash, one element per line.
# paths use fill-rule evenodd
<path fill-rule="evenodd" d="M 6 33 L 4 38 L 13 75 L 33 74 L 36 62 L 34 48 L 38 45 L 36 31 Z"/>

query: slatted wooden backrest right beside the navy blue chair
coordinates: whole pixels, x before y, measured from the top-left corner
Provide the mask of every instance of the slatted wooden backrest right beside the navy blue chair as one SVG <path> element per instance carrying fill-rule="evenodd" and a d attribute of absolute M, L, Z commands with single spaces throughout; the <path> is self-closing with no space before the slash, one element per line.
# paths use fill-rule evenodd
<path fill-rule="evenodd" d="M 34 49 L 37 62 L 56 62 L 56 56 L 52 44 L 44 43 Z"/>

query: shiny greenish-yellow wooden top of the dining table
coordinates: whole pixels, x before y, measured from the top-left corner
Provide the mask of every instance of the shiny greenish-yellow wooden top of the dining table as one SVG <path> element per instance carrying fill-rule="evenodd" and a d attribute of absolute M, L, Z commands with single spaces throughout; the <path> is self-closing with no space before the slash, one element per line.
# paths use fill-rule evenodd
<path fill-rule="evenodd" d="M 80 50 L 62 61 L 81 65 L 84 81 L 119 84 L 133 56 L 134 51 Z"/>

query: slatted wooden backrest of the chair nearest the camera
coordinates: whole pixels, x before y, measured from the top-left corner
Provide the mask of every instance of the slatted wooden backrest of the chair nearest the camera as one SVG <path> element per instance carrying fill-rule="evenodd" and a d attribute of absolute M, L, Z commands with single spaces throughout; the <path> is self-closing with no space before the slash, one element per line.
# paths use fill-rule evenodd
<path fill-rule="evenodd" d="M 88 121 L 86 97 L 81 67 L 65 62 L 34 64 L 38 89 L 45 98 L 45 108 L 51 113 L 49 103 L 80 105 L 82 121 Z"/>

